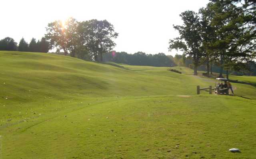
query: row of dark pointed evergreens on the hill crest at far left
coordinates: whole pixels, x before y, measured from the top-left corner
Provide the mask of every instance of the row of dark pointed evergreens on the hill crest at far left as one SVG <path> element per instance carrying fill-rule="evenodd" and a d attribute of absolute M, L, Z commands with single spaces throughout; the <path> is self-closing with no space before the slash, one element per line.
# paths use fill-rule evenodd
<path fill-rule="evenodd" d="M 24 38 L 20 40 L 20 43 L 14 41 L 13 38 L 6 37 L 0 40 L 0 50 L 6 51 L 20 51 L 20 52 L 48 52 L 50 49 L 50 44 L 47 42 L 46 38 L 42 38 L 36 42 L 35 38 L 32 38 L 28 44 Z"/>

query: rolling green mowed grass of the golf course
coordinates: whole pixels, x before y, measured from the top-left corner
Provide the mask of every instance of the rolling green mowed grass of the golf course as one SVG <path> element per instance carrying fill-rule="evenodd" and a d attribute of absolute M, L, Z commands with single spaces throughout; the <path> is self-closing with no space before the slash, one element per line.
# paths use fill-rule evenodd
<path fill-rule="evenodd" d="M 236 96 L 196 95 L 196 85 L 215 81 L 188 68 L 175 67 L 177 74 L 43 53 L 0 52 L 0 69 L 0 159 L 256 156 L 254 86 L 232 83 Z"/>

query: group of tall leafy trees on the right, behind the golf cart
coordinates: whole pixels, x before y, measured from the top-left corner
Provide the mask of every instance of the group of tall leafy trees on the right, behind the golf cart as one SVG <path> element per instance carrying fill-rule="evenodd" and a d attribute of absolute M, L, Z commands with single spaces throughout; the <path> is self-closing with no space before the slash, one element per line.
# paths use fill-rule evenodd
<path fill-rule="evenodd" d="M 182 50 L 191 59 L 194 75 L 200 65 L 223 70 L 248 69 L 248 62 L 256 57 L 256 1 L 210 0 L 198 12 L 187 10 L 180 14 L 182 25 L 174 25 L 180 34 L 170 39 L 169 50 Z"/>

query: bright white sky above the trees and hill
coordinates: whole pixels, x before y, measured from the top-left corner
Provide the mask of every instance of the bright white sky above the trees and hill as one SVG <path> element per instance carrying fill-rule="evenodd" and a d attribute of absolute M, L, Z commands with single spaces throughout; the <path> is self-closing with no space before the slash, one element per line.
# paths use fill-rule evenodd
<path fill-rule="evenodd" d="M 119 33 L 115 40 L 120 52 L 175 55 L 168 41 L 178 36 L 173 24 L 182 24 L 179 14 L 198 11 L 209 0 L 2 0 L 0 39 L 19 42 L 42 38 L 54 20 L 74 17 L 78 21 L 108 20 Z"/>

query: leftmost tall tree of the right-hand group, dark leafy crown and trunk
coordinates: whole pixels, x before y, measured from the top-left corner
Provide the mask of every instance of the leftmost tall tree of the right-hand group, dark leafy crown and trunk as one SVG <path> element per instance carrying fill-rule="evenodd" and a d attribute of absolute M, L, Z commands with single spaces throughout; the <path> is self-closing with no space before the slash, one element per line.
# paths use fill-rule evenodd
<path fill-rule="evenodd" d="M 192 58 L 194 64 L 194 75 L 197 75 L 197 68 L 201 64 L 200 58 L 203 56 L 202 38 L 200 36 L 200 18 L 194 11 L 185 11 L 180 14 L 183 20 L 182 26 L 174 26 L 178 30 L 180 37 L 170 39 L 169 50 L 182 50 Z"/>

